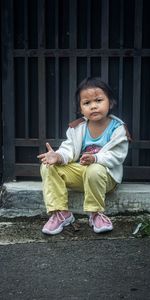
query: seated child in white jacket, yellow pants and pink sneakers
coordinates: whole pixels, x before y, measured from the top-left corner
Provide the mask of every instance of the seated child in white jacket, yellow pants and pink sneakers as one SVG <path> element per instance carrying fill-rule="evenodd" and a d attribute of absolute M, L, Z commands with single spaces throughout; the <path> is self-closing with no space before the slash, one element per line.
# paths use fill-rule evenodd
<path fill-rule="evenodd" d="M 128 152 L 125 124 L 110 114 L 115 100 L 111 88 L 100 78 L 83 80 L 76 101 L 83 118 L 69 124 L 67 139 L 57 151 L 46 143 L 48 152 L 38 155 L 44 201 L 47 213 L 51 213 L 42 229 L 45 234 L 57 234 L 74 222 L 68 211 L 67 188 L 84 192 L 83 208 L 94 232 L 113 229 L 103 212 L 106 193 L 122 180 Z"/>

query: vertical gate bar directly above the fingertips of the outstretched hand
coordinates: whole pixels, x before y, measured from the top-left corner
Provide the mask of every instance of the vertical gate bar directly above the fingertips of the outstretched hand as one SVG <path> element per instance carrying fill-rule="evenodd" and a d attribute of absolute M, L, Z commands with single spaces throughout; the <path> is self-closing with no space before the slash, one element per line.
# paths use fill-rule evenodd
<path fill-rule="evenodd" d="M 45 1 L 38 0 L 38 49 L 45 47 Z M 39 51 L 40 52 L 40 51 Z M 46 91 L 45 91 L 45 57 L 40 52 L 38 57 L 38 103 L 39 103 L 39 139 L 46 138 Z M 43 144 L 43 145 L 42 145 Z M 40 151 L 44 143 L 41 142 Z"/>

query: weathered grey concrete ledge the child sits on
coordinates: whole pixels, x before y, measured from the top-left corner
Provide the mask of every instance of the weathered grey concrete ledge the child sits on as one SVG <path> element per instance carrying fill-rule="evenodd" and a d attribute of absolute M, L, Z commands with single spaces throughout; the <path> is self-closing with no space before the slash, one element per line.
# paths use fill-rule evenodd
<path fill-rule="evenodd" d="M 83 194 L 68 191 L 69 208 L 83 214 Z M 150 185 L 123 183 L 106 197 L 106 212 L 109 215 L 124 213 L 150 213 Z M 44 216 L 41 182 L 5 183 L 1 190 L 0 217 Z"/>

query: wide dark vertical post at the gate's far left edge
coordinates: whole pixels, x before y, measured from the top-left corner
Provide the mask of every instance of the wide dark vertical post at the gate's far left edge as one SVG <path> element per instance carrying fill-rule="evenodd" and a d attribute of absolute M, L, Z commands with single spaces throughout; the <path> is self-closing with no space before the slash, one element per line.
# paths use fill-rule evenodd
<path fill-rule="evenodd" d="M 4 180 L 15 179 L 15 111 L 13 62 L 13 1 L 2 1 L 2 99 L 4 118 Z"/>

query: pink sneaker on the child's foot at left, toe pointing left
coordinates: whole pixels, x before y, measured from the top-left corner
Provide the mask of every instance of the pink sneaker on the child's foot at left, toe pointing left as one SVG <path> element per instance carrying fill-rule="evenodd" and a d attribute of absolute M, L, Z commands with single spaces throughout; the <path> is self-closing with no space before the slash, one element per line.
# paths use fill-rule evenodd
<path fill-rule="evenodd" d="M 73 223 L 75 220 L 72 213 L 68 213 L 66 216 L 63 212 L 58 211 L 52 214 L 48 222 L 44 225 L 42 232 L 46 234 L 57 234 L 63 230 L 64 226 Z"/>

